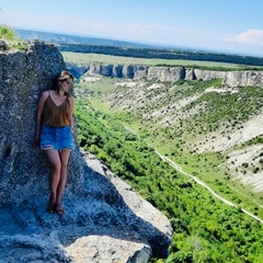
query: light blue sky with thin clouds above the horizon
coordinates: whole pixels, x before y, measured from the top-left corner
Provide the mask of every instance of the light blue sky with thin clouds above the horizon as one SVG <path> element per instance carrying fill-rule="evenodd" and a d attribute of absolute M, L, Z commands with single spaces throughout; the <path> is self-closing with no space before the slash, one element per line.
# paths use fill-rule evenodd
<path fill-rule="evenodd" d="M 263 56 L 262 0 L 0 0 L 12 27 Z"/>

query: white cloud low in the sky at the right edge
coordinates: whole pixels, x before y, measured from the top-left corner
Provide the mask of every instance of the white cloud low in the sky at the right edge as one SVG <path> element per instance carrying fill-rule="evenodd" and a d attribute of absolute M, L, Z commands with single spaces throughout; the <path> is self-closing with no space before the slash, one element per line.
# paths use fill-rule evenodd
<path fill-rule="evenodd" d="M 248 30 L 242 32 L 231 38 L 227 38 L 228 42 L 238 42 L 244 44 L 255 44 L 262 45 L 263 44 L 263 30 Z"/>

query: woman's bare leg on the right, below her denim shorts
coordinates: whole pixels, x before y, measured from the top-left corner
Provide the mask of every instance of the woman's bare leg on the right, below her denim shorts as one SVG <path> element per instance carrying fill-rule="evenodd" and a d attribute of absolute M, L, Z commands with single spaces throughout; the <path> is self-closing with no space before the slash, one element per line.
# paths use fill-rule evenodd
<path fill-rule="evenodd" d="M 60 169 L 60 179 L 57 186 L 57 197 L 56 197 L 56 204 L 60 205 L 62 199 L 62 194 L 65 190 L 65 185 L 67 182 L 67 173 L 68 173 L 68 161 L 70 156 L 70 149 L 64 149 L 59 152 L 61 169 Z"/>

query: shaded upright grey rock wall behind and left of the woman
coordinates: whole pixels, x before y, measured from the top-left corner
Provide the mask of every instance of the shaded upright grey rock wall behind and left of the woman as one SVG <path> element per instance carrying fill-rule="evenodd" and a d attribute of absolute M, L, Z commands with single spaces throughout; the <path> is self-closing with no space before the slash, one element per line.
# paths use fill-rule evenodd
<path fill-rule="evenodd" d="M 26 52 L 0 54 L 0 199 L 21 203 L 43 193 L 46 169 L 33 147 L 38 95 L 65 64 L 54 46 L 34 43 Z M 32 187 L 33 186 L 33 187 Z M 30 197 L 31 199 L 31 197 Z"/>

